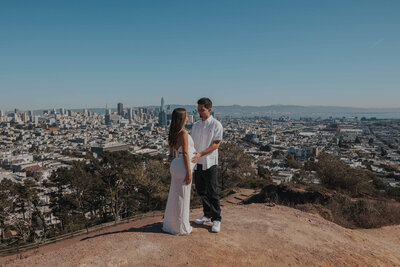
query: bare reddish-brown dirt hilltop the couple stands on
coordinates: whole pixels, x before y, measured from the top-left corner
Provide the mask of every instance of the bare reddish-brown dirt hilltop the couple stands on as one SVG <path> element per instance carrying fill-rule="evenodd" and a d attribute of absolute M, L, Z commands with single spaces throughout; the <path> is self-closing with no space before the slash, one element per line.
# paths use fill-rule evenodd
<path fill-rule="evenodd" d="M 350 230 L 285 206 L 237 205 L 250 193 L 222 201 L 219 234 L 201 226 L 175 237 L 154 217 L 4 257 L 0 265 L 400 266 L 400 226 Z M 191 220 L 201 214 L 192 210 Z"/>

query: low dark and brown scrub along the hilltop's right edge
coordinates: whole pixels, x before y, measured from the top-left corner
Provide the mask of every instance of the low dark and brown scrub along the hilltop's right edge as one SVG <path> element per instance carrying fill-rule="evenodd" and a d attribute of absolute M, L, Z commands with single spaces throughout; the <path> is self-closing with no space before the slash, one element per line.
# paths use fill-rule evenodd
<path fill-rule="evenodd" d="M 270 184 L 245 203 L 275 202 L 319 214 L 347 228 L 376 228 L 400 224 L 400 203 L 387 199 L 351 198 L 321 185 Z"/>

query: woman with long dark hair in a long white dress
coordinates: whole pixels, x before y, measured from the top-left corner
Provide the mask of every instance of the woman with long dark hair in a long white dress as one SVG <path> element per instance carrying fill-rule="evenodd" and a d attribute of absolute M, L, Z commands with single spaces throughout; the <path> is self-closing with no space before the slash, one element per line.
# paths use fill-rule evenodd
<path fill-rule="evenodd" d="M 163 231 L 173 235 L 187 235 L 192 232 L 189 212 L 194 167 L 191 158 L 195 149 L 192 137 L 185 130 L 187 119 L 185 109 L 174 109 L 168 135 L 169 151 L 174 159 L 170 167 L 171 187 L 164 213 Z"/>

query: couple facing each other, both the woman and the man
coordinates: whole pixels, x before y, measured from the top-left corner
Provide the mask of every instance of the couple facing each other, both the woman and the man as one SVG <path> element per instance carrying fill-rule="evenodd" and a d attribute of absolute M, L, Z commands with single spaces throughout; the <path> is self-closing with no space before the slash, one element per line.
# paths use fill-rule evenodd
<path fill-rule="evenodd" d="M 193 170 L 196 191 L 201 197 L 204 212 L 204 216 L 194 222 L 212 222 L 211 230 L 215 233 L 221 229 L 217 164 L 223 129 L 221 123 L 211 115 L 211 108 L 210 99 L 201 98 L 197 101 L 201 120 L 193 124 L 190 135 L 185 130 L 188 119 L 186 110 L 176 108 L 172 112 L 168 143 L 174 159 L 170 167 L 171 187 L 163 231 L 174 235 L 187 235 L 193 230 L 189 222 Z"/>

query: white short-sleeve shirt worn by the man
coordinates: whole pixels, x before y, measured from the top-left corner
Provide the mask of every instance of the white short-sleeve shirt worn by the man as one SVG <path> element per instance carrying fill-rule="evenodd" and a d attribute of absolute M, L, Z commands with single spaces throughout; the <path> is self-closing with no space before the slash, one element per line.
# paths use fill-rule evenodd
<path fill-rule="evenodd" d="M 210 116 L 205 121 L 196 121 L 192 126 L 190 135 L 193 138 L 196 151 L 201 152 L 211 146 L 214 141 L 222 141 L 222 124 L 217 121 L 213 116 Z M 202 164 L 203 170 L 209 169 L 210 167 L 217 165 L 218 149 L 214 150 L 210 154 L 201 157 L 197 164 Z"/>

